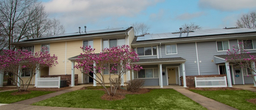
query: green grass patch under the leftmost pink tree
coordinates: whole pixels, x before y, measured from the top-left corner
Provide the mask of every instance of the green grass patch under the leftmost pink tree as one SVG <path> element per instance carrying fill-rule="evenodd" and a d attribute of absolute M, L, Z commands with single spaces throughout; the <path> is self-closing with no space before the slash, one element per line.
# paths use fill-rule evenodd
<path fill-rule="evenodd" d="M 45 94 L 53 93 L 54 91 L 30 91 L 30 94 L 23 95 L 11 95 L 17 90 L 12 91 L 4 91 L 0 93 L 0 103 L 2 104 L 11 104 L 15 102 L 19 102 L 21 100 L 42 96 Z"/>

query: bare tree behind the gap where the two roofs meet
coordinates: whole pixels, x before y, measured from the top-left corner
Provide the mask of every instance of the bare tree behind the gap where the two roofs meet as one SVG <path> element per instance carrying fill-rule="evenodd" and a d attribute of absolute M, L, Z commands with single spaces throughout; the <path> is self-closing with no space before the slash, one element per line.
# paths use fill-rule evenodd
<path fill-rule="evenodd" d="M 131 25 L 133 26 L 135 35 L 149 34 L 148 31 L 150 29 L 150 26 L 148 26 L 147 24 L 143 22 L 142 23 L 135 22 L 135 23 L 132 23 Z"/>

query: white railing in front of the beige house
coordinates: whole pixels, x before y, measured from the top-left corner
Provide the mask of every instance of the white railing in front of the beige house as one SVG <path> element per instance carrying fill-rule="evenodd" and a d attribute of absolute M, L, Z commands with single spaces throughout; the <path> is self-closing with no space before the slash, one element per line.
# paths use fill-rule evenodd
<path fill-rule="evenodd" d="M 37 78 L 37 88 L 60 88 L 60 76 L 54 78 Z"/>

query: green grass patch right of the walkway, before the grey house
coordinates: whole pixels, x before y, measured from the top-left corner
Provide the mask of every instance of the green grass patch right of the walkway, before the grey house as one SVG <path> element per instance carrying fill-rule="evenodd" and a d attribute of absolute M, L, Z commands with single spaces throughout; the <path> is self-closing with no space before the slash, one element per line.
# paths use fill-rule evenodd
<path fill-rule="evenodd" d="M 237 109 L 255 109 L 256 104 L 246 101 L 246 99 L 256 98 L 256 93 L 248 90 L 190 90 L 208 98 L 217 100 L 223 104 L 235 107 Z"/>

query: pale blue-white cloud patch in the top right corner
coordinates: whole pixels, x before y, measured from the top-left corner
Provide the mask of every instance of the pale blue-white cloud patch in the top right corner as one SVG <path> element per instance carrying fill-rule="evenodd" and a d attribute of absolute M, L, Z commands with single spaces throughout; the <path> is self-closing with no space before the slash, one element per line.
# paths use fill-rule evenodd
<path fill-rule="evenodd" d="M 213 8 L 220 11 L 237 11 L 244 8 L 255 8 L 255 0 L 199 0 L 198 5 L 203 8 Z"/>

